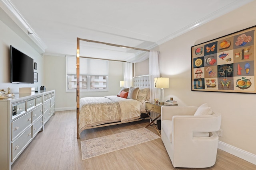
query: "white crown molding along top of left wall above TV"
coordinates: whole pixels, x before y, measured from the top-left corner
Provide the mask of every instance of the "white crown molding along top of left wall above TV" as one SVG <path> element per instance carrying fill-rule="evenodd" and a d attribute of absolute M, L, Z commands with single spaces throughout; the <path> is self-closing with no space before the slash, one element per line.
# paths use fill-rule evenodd
<path fill-rule="evenodd" d="M 27 37 L 29 37 L 40 49 L 39 53 L 44 53 L 47 48 L 45 43 L 40 39 L 40 37 L 36 34 L 34 29 L 29 25 L 29 23 L 25 20 L 25 18 L 20 14 L 17 8 L 12 4 L 10 0 L 1 0 L 0 7 L 6 12 L 6 14 L 26 33 Z M 29 43 L 29 42 L 28 42 Z"/>

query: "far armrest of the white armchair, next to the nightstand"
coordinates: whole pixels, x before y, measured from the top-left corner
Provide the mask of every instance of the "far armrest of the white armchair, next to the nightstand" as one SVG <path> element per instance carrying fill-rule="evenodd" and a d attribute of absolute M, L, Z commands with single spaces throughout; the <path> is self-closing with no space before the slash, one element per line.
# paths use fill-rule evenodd
<path fill-rule="evenodd" d="M 172 120 L 175 115 L 194 115 L 196 106 L 162 106 L 161 120 Z"/>

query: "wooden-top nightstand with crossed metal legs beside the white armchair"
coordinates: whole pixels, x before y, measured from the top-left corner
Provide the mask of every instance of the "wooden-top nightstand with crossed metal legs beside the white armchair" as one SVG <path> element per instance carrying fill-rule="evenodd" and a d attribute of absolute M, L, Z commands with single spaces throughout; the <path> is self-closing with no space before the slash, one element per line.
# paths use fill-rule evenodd
<path fill-rule="evenodd" d="M 159 104 L 156 104 L 155 102 L 146 102 L 146 112 L 147 112 L 147 114 L 148 114 L 148 116 L 150 117 L 150 120 L 151 120 L 151 122 L 146 126 L 146 128 L 149 127 L 151 124 L 153 124 L 156 131 L 158 132 L 158 134 L 160 136 L 161 136 L 161 134 L 159 133 L 158 129 L 156 128 L 156 124 L 154 123 L 154 121 L 156 121 L 161 116 L 161 107 L 162 106 L 178 106 L 178 104 L 169 104 L 167 102 L 164 102 L 163 105 L 159 105 Z M 158 114 L 158 116 L 155 117 L 154 120 L 151 116 L 152 112 Z"/>

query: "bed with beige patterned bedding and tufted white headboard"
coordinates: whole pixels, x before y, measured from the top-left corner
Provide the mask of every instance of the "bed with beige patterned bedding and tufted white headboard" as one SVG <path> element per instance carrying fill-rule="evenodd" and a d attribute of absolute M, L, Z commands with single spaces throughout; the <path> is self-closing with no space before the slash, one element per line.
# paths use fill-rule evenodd
<path fill-rule="evenodd" d="M 149 119 L 145 110 L 145 103 L 150 100 L 149 86 L 149 76 L 138 76 L 133 78 L 127 98 L 120 95 L 126 93 L 127 88 L 115 96 L 81 98 L 78 135 L 85 129 Z"/>

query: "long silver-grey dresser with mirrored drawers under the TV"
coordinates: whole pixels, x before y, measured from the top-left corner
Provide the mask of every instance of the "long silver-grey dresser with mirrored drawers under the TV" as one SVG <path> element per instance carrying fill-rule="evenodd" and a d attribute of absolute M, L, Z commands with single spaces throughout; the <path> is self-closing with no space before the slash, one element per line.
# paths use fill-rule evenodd
<path fill-rule="evenodd" d="M 10 170 L 45 123 L 54 115 L 55 90 L 15 94 L 0 100 L 0 170 Z"/>

